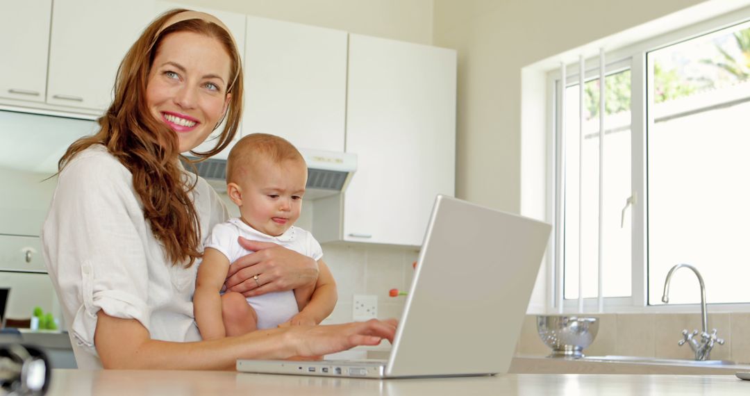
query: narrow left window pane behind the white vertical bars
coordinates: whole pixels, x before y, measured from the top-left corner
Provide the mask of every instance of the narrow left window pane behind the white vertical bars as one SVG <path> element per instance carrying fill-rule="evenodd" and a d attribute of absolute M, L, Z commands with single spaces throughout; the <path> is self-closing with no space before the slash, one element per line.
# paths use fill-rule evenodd
<path fill-rule="evenodd" d="M 578 79 L 580 80 L 580 79 Z M 578 298 L 578 269 L 583 269 L 583 297 L 598 293 L 599 80 L 584 78 L 583 128 L 580 128 L 580 83 L 565 88 L 565 299 Z M 604 80 L 604 278 L 606 297 L 631 295 L 630 222 L 619 211 L 630 187 L 630 70 L 610 73 Z M 582 139 L 581 139 L 582 138 Z M 582 151 L 581 151 L 582 150 Z"/>

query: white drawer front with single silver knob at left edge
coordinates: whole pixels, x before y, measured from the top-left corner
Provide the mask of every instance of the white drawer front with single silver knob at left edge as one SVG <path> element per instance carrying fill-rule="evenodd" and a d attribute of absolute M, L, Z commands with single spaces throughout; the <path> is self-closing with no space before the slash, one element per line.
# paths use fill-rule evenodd
<path fill-rule="evenodd" d="M 0 271 L 46 273 L 39 237 L 0 235 Z"/>

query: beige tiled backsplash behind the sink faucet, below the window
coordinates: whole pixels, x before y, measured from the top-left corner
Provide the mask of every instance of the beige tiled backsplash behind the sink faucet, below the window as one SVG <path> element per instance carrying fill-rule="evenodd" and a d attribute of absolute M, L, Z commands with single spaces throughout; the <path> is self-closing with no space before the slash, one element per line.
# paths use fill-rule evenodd
<path fill-rule="evenodd" d="M 599 329 L 586 356 L 625 355 L 663 359 L 693 359 L 688 345 L 680 347 L 682 329 L 700 330 L 700 314 L 595 314 Z M 750 363 L 750 314 L 709 314 L 709 332 L 717 329 L 724 345 L 715 345 L 711 359 Z M 516 353 L 548 355 L 550 349 L 542 344 L 536 332 L 536 315 L 527 315 Z"/>

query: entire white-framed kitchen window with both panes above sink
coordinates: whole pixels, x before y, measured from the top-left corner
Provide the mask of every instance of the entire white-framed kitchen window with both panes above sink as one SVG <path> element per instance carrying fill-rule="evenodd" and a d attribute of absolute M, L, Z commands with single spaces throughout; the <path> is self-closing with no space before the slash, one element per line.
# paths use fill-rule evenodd
<path fill-rule="evenodd" d="M 662 305 L 664 278 L 679 263 L 700 271 L 709 302 L 750 302 L 750 22 L 721 17 L 713 26 L 728 27 L 686 28 L 607 54 L 616 62 L 605 68 L 601 186 L 598 58 L 583 76 L 568 64 L 564 88 L 550 72 L 562 269 L 554 294 L 565 305 L 598 297 L 600 193 L 606 307 Z M 697 302 L 694 275 L 677 272 L 670 305 Z"/>

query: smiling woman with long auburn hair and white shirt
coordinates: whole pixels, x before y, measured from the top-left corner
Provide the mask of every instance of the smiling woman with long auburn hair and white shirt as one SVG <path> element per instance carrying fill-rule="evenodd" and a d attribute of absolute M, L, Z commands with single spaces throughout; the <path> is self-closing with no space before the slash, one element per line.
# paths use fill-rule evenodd
<path fill-rule="evenodd" d="M 392 340 L 395 321 L 372 320 L 199 341 L 190 301 L 197 262 L 206 233 L 228 216 L 178 156 L 224 118 L 217 146 L 199 155 L 231 141 L 242 113 L 239 59 L 215 17 L 163 14 L 125 55 L 101 130 L 60 160 L 42 241 L 79 368 L 229 369 L 240 358 L 319 356 Z M 307 257 L 242 243 L 257 253 L 234 265 L 231 290 L 260 294 L 317 279 Z"/>

